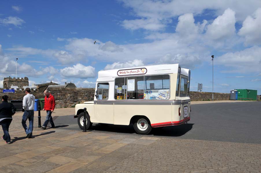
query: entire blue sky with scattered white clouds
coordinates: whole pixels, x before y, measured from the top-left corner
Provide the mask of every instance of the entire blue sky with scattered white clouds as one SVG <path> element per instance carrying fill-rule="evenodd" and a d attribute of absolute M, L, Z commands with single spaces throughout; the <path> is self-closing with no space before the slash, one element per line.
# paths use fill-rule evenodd
<path fill-rule="evenodd" d="M 73 82 L 100 70 L 179 63 L 212 92 L 261 94 L 261 1 L 0 1 L 0 87 Z M 96 41 L 96 44 L 94 44 Z"/>

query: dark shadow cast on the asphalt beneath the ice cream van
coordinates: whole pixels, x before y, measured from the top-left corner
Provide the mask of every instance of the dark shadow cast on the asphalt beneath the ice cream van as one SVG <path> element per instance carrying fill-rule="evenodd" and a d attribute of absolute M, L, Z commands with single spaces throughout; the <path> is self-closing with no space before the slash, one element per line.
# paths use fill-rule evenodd
<path fill-rule="evenodd" d="M 186 123 L 177 126 L 152 128 L 149 135 L 179 137 L 185 135 L 188 131 L 190 131 L 193 125 L 194 124 Z M 96 125 L 92 125 L 91 130 L 107 131 L 107 132 L 115 132 L 115 133 L 136 133 L 132 124 L 131 125 L 96 124 Z"/>

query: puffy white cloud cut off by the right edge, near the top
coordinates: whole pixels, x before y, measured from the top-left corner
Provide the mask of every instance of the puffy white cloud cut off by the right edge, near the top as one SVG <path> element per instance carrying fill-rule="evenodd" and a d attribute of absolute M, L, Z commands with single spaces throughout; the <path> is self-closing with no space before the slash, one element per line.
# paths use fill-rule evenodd
<path fill-rule="evenodd" d="M 258 8 L 252 16 L 247 16 L 238 35 L 245 37 L 246 45 L 261 44 L 261 8 Z"/>

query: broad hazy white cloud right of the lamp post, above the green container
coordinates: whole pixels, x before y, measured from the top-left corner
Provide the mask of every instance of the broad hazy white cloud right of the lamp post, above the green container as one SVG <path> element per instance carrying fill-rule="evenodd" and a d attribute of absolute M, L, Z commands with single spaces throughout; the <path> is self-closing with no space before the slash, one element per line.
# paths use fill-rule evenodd
<path fill-rule="evenodd" d="M 260 73 L 261 47 L 253 46 L 238 52 L 230 52 L 217 57 L 214 64 L 229 67 L 224 73 Z"/>

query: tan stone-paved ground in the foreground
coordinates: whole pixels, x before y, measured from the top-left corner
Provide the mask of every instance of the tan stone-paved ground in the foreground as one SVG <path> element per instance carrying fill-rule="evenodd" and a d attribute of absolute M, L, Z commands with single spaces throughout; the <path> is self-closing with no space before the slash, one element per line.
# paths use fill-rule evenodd
<path fill-rule="evenodd" d="M 21 116 L 13 118 L 13 143 L 0 141 L 0 173 L 261 172 L 261 144 L 81 132 L 69 126 L 35 128 L 28 139 Z"/>

